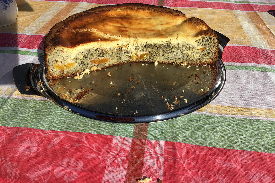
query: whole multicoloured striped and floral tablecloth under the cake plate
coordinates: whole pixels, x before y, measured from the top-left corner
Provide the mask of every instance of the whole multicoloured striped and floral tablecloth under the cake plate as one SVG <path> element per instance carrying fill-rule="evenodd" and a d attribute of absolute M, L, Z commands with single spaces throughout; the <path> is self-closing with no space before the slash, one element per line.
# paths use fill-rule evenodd
<path fill-rule="evenodd" d="M 114 124 L 18 92 L 13 67 L 43 60 L 55 23 L 128 2 L 17 1 L 17 21 L 0 27 L 0 182 L 275 182 L 275 17 L 267 13 L 274 0 L 134 1 L 201 18 L 231 39 L 222 92 L 192 114 Z"/>

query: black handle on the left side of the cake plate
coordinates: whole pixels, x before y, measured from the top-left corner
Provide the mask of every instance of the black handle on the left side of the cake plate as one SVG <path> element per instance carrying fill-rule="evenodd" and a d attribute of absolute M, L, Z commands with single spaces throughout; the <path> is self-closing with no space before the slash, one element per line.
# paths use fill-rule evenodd
<path fill-rule="evenodd" d="M 37 83 L 34 83 L 39 67 L 40 64 L 36 63 L 25 63 L 13 67 L 13 81 L 20 94 L 41 96 L 36 87 Z M 26 87 L 30 87 L 29 90 Z"/>

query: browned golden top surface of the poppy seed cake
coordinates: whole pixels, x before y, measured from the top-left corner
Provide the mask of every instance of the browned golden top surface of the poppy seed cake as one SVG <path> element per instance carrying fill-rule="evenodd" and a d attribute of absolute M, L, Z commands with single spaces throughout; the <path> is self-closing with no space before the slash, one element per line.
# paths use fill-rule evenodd
<path fill-rule="evenodd" d="M 45 49 L 75 47 L 82 43 L 114 41 L 128 37 L 194 37 L 211 30 L 204 21 L 180 11 L 146 4 L 101 6 L 74 14 L 54 25 Z"/>

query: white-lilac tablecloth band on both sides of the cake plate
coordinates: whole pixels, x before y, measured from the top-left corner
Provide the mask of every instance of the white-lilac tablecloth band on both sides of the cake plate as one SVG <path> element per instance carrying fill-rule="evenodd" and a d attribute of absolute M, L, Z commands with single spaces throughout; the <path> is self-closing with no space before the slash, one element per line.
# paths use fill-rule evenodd
<path fill-rule="evenodd" d="M 16 89 L 13 82 L 13 67 L 23 63 L 40 63 L 39 59 L 32 55 L 17 55 L 1 53 L 0 62 L 0 86 Z M 10 60 L 13 60 L 11 62 Z M 241 65 L 241 63 L 238 63 Z M 261 109 L 275 109 L 275 73 L 227 70 L 225 86 L 221 93 L 211 104 L 222 106 L 236 106 Z M 11 95 L 2 93 L 1 97 Z"/>

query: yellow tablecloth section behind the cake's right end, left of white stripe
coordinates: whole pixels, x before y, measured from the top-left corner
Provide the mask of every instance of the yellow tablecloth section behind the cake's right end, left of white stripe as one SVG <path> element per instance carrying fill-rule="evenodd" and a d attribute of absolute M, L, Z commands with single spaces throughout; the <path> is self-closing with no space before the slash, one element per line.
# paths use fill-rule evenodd
<path fill-rule="evenodd" d="M 247 38 L 239 19 L 233 10 L 205 8 L 173 8 L 182 11 L 188 18 L 197 17 L 225 36 L 230 38 L 230 44 L 254 46 Z"/>

